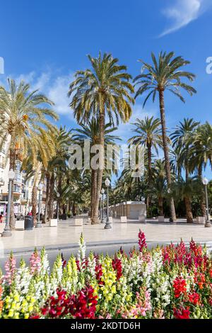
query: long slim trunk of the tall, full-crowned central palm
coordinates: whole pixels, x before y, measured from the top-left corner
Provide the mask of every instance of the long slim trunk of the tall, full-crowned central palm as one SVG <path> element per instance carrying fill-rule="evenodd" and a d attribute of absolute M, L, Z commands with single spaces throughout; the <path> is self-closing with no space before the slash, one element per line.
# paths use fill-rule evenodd
<path fill-rule="evenodd" d="M 97 179 L 97 188 L 95 193 L 95 201 L 94 201 L 94 208 L 93 208 L 93 218 L 91 220 L 91 224 L 95 225 L 100 223 L 98 218 L 99 213 L 99 203 L 100 203 L 100 191 L 102 188 L 102 175 L 104 169 L 104 139 L 105 139 L 105 112 L 102 108 L 102 112 L 100 112 L 100 161 L 99 161 L 99 169 L 98 169 L 98 179 Z"/>

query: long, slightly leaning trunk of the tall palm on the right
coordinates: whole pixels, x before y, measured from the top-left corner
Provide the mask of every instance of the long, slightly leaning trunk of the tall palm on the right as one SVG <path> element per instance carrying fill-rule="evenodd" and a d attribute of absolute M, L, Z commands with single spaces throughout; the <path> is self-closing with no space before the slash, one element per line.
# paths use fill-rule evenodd
<path fill-rule="evenodd" d="M 167 135 L 166 135 L 166 124 L 165 124 L 165 106 L 164 106 L 164 90 L 159 90 L 159 101 L 160 101 L 160 121 L 162 127 L 162 135 L 163 135 L 163 150 L 164 150 L 164 157 L 165 157 L 165 171 L 166 171 L 166 178 L 167 178 L 167 185 L 170 187 L 172 184 L 171 179 L 171 171 L 170 171 L 170 161 L 169 161 L 169 148 L 167 145 Z M 170 214 L 172 222 L 177 220 L 176 213 L 175 213 L 175 202 L 174 199 L 170 198 Z"/>

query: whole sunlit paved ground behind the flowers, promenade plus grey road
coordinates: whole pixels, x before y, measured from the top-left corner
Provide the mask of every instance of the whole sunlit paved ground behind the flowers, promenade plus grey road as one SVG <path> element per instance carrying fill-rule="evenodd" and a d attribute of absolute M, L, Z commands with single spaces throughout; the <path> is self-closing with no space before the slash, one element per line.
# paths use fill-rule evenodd
<path fill-rule="evenodd" d="M 105 225 L 90 225 L 87 218 L 84 219 L 83 227 L 73 225 L 73 220 L 60 221 L 58 227 L 48 227 L 32 231 L 13 232 L 8 238 L 0 237 L 0 267 L 4 271 L 4 262 L 8 254 L 13 251 L 17 263 L 21 258 L 29 261 L 33 249 L 46 247 L 49 262 L 52 265 L 57 254 L 62 253 L 64 259 L 69 259 L 71 254 L 78 252 L 78 240 L 83 232 L 87 243 L 87 252 L 92 250 L 95 253 L 112 254 L 122 247 L 126 253 L 136 246 L 139 229 L 145 232 L 148 247 L 155 247 L 157 244 L 165 245 L 170 242 L 177 243 L 184 239 L 186 245 L 193 238 L 196 242 L 206 244 L 209 251 L 212 249 L 212 227 L 205 228 L 204 225 L 188 225 L 184 220 L 178 224 L 168 221 L 158 223 L 148 221 L 141 223 L 129 220 L 127 223 L 120 223 L 114 220 L 112 230 L 105 230 Z M 4 225 L 0 225 L 0 232 Z"/>

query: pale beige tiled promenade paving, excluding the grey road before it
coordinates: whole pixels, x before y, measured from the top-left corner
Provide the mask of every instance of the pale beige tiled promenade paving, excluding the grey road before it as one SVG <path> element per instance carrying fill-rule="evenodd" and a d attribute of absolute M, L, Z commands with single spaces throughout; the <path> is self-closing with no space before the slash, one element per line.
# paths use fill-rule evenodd
<path fill-rule="evenodd" d="M 8 250 L 24 251 L 34 247 L 48 247 L 56 249 L 78 244 L 78 239 L 83 232 L 86 242 L 93 244 L 124 244 L 126 242 L 135 242 L 138 238 L 139 229 L 145 232 L 148 242 L 179 242 L 184 239 L 185 242 L 193 239 L 196 242 L 212 242 L 212 227 L 205 228 L 204 225 L 188 225 L 186 223 L 171 224 L 148 222 L 146 224 L 136 221 L 120 223 L 115 221 L 112 230 L 104 230 L 105 225 L 90 225 L 84 223 L 83 227 L 76 227 L 72 220 L 59 222 L 58 227 L 48 227 L 42 225 L 42 228 L 32 231 L 13 232 L 8 238 L 0 237 L 0 255 Z M 0 225 L 0 233 L 4 225 Z"/>

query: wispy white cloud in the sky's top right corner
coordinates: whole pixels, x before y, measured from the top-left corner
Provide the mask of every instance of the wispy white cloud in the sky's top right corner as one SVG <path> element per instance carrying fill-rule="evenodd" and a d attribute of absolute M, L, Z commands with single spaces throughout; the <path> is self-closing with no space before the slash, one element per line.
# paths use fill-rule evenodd
<path fill-rule="evenodd" d="M 187 26 L 211 6 L 211 0 L 175 0 L 174 2 L 175 4 L 163 10 L 163 14 L 170 19 L 171 26 L 160 37 Z"/>

